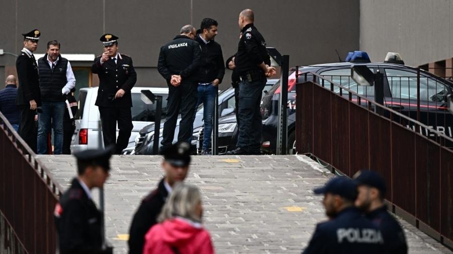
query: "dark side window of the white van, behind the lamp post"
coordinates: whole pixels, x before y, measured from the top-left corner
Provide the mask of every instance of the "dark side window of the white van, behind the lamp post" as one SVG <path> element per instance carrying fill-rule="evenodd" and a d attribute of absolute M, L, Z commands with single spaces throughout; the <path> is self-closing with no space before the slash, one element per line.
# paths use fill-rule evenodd
<path fill-rule="evenodd" d="M 167 115 L 167 98 L 168 94 L 156 94 L 162 96 L 162 115 L 161 119 Z M 156 104 L 145 104 L 141 100 L 141 93 L 132 93 L 132 120 L 133 121 L 155 121 Z"/>

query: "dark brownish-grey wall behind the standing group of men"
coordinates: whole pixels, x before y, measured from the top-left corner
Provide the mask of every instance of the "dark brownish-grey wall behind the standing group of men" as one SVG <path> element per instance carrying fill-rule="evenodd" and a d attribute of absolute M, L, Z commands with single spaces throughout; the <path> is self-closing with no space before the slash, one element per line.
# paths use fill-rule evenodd
<path fill-rule="evenodd" d="M 117 35 L 119 51 L 133 58 L 137 85 L 162 86 L 165 82 L 156 70 L 161 45 L 183 25 L 199 27 L 202 18 L 211 17 L 219 22 L 216 41 L 226 59 L 236 52 L 238 14 L 245 8 L 255 11 L 255 25 L 267 45 L 289 54 L 291 65 L 337 61 L 335 49 L 343 58 L 359 47 L 359 0 L 2 0 L 0 49 L 19 52 L 21 33 L 37 28 L 42 33 L 37 53 L 57 39 L 62 53 L 100 55 L 99 37 L 105 31 Z M 0 66 L 14 62 L 13 56 L 0 56 Z M 230 72 L 223 83 L 229 86 Z"/>

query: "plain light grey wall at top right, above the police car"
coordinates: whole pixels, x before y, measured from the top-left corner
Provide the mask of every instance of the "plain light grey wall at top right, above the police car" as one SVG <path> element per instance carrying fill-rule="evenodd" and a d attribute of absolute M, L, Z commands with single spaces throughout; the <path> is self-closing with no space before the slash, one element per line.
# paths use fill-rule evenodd
<path fill-rule="evenodd" d="M 453 0 L 361 0 L 360 49 L 372 61 L 399 52 L 412 66 L 453 57 Z"/>

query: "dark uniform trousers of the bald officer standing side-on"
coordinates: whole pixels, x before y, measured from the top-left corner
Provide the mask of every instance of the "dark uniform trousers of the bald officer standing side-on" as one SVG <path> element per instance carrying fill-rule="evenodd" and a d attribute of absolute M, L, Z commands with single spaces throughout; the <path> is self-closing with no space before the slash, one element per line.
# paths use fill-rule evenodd
<path fill-rule="evenodd" d="M 262 118 L 260 111 L 261 94 L 267 80 L 239 84 L 239 137 L 237 147 L 250 153 L 259 154 L 261 150 Z"/>

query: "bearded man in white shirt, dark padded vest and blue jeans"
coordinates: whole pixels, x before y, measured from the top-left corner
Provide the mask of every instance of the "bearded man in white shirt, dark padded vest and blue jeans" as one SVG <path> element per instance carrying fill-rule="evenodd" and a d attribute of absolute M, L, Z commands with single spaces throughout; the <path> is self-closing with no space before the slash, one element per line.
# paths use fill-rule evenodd
<path fill-rule="evenodd" d="M 54 154 L 63 150 L 63 116 L 66 95 L 75 86 L 69 61 L 60 55 L 60 43 L 49 41 L 46 54 L 38 61 L 42 105 L 38 108 L 38 154 L 47 154 L 48 135 L 53 128 Z"/>

